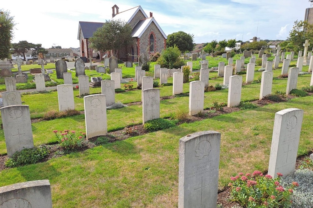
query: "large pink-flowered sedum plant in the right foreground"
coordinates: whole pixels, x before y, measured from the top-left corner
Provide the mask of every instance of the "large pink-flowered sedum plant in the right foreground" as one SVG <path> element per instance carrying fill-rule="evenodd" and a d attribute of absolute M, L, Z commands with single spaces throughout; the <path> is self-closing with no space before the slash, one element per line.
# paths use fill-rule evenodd
<path fill-rule="evenodd" d="M 231 200 L 239 202 L 246 208 L 287 208 L 291 207 L 291 195 L 297 182 L 292 182 L 288 187 L 280 186 L 281 173 L 277 177 L 263 175 L 260 171 L 254 171 L 252 174 L 239 173 L 235 177 L 230 177 Z"/>

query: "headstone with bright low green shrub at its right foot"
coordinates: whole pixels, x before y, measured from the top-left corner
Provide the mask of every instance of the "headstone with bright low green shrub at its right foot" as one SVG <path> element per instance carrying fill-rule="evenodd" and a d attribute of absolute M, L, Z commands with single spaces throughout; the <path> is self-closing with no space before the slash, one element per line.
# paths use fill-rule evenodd
<path fill-rule="evenodd" d="M 142 90 L 142 124 L 160 118 L 160 89 Z"/>

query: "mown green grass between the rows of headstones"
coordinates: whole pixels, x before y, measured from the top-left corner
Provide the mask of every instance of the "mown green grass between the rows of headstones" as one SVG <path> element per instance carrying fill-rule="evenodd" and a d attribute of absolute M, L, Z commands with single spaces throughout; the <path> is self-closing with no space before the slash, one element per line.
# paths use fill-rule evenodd
<path fill-rule="evenodd" d="M 216 61 L 218 63 L 221 60 Z M 295 63 L 296 61 L 291 65 Z M 194 62 L 194 70 L 195 67 L 197 67 L 196 62 Z M 256 67 L 256 70 L 258 68 Z M 280 75 L 280 69 L 273 70 L 272 92 L 285 92 L 287 78 L 277 78 Z M 132 70 L 134 71 L 134 67 Z M 303 71 L 307 70 L 308 66 L 304 66 Z M 86 74 L 87 71 L 89 70 L 86 70 Z M 255 71 L 254 81 L 256 82 L 243 85 L 241 101 L 259 99 L 260 83 L 257 80 L 260 75 L 261 72 Z M 309 86 L 310 77 L 310 74 L 300 75 L 297 89 Z M 223 83 L 223 78 L 217 77 L 217 72 L 210 72 L 210 78 L 209 85 Z M 57 79 L 55 77 L 52 80 Z M 168 83 L 172 83 L 172 78 L 168 79 Z M 129 84 L 133 84 L 133 88 L 136 88 L 136 82 Z M 172 95 L 172 86 L 161 86 L 158 89 L 161 91 L 161 97 Z M 184 83 L 183 92 L 187 94 L 188 91 L 189 83 Z M 99 93 L 101 93 L 101 88 L 90 88 L 90 94 Z M 83 98 L 78 95 L 78 90 L 75 89 L 75 109 L 83 111 Z M 206 113 L 213 113 L 209 110 L 213 101 L 226 103 L 227 95 L 228 89 L 205 92 L 204 109 L 208 109 Z M 127 105 L 141 101 L 141 90 L 127 90 L 115 96 L 116 102 L 120 101 Z M 178 140 L 187 134 L 204 130 L 221 133 L 220 189 L 228 184 L 230 176 L 238 172 L 267 171 L 274 116 L 282 109 L 304 110 L 298 155 L 306 155 L 310 152 L 313 138 L 313 130 L 310 128 L 310 122 L 313 119 L 313 97 L 290 98 L 292 99 L 286 102 L 182 123 L 162 131 L 102 144 L 83 152 L 73 152 L 42 163 L 5 169 L 0 172 L 0 186 L 49 179 L 54 207 L 177 207 Z M 29 105 L 32 119 L 41 118 L 46 112 L 58 109 L 56 91 L 24 94 L 22 101 L 24 101 L 23 104 Z M 179 111 L 187 111 L 187 103 L 188 96 L 162 99 L 160 102 L 161 118 L 172 118 Z M 140 103 L 126 108 L 108 110 L 109 134 L 124 127 L 141 124 L 141 118 Z M 35 122 L 32 123 L 32 129 L 36 145 L 55 143 L 53 130 L 85 131 L 85 117 L 80 114 Z M 5 153 L 4 134 L 1 129 L 0 154 Z"/>

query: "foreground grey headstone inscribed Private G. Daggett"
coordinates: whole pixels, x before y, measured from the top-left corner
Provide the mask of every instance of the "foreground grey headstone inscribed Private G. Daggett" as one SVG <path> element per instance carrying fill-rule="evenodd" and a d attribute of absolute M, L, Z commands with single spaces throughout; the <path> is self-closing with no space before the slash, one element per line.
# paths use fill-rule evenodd
<path fill-rule="evenodd" d="M 178 208 L 216 208 L 221 134 L 192 133 L 179 139 Z"/>

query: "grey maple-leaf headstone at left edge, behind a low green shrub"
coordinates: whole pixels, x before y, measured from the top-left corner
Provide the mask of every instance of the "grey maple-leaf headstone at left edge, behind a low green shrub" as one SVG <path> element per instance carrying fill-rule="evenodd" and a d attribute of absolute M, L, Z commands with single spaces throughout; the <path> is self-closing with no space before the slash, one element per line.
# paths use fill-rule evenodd
<path fill-rule="evenodd" d="M 28 105 L 10 105 L 1 110 L 8 157 L 25 148 L 33 148 L 33 132 Z"/>

